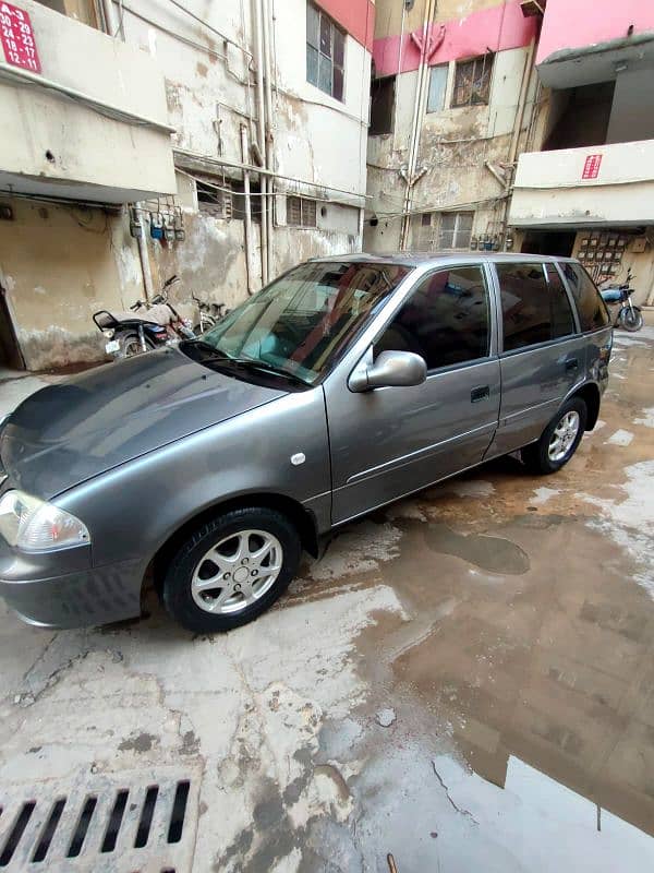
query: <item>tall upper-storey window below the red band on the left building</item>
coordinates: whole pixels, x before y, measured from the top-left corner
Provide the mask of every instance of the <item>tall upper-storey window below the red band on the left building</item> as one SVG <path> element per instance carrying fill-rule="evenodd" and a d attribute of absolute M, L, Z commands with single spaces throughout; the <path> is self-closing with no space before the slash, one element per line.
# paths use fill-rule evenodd
<path fill-rule="evenodd" d="M 313 3 L 306 4 L 306 81 L 343 99 L 346 35 Z"/>

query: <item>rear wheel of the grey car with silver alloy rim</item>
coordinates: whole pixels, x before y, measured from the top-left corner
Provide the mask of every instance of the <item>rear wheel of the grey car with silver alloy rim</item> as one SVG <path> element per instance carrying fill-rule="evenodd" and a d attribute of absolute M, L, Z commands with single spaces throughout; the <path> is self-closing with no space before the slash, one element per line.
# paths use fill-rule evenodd
<path fill-rule="evenodd" d="M 541 439 L 521 451 L 524 466 L 540 476 L 560 470 L 577 452 L 588 417 L 588 407 L 581 397 L 567 400 L 545 428 Z"/>

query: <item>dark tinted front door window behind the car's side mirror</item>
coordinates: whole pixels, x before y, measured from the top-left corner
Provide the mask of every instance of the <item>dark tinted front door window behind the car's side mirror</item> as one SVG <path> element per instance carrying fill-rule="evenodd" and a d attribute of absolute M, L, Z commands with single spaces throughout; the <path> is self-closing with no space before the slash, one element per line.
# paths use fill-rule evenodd
<path fill-rule="evenodd" d="M 488 335 L 483 270 L 440 270 L 419 284 L 375 344 L 375 354 L 414 351 L 435 370 L 486 357 Z"/>

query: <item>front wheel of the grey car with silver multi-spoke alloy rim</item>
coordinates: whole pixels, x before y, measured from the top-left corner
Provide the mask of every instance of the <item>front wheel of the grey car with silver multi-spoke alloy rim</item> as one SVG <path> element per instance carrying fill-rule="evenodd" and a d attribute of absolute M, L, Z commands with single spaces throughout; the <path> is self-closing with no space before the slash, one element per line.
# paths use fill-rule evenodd
<path fill-rule="evenodd" d="M 195 633 L 246 624 L 287 589 L 301 552 L 298 531 L 281 513 L 232 510 L 182 543 L 164 578 L 164 606 Z"/>

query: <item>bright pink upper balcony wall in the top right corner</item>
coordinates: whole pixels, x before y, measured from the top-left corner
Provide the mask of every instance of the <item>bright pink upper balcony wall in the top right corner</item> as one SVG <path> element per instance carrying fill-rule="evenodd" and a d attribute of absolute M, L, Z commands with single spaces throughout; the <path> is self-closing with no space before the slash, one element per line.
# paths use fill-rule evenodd
<path fill-rule="evenodd" d="M 547 0 L 536 63 L 555 51 L 654 31 L 654 0 Z"/>

